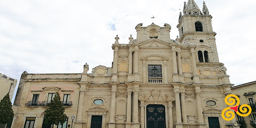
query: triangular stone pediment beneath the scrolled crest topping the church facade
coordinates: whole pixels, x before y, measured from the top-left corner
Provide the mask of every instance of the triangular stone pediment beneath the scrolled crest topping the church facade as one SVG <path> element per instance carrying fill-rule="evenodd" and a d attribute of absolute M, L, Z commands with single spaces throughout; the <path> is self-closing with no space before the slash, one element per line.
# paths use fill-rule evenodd
<path fill-rule="evenodd" d="M 159 39 L 149 39 L 138 44 L 140 44 L 139 48 L 170 48 L 171 45 Z"/>

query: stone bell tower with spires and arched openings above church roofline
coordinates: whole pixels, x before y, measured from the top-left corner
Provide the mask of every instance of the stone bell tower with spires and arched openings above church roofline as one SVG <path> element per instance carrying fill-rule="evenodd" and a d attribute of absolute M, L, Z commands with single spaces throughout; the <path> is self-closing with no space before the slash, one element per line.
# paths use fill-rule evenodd
<path fill-rule="evenodd" d="M 215 35 L 211 24 L 212 16 L 203 2 L 201 11 L 194 0 L 184 2 L 183 15 L 180 12 L 179 29 L 180 43 L 196 45 L 198 62 L 219 63 Z"/>

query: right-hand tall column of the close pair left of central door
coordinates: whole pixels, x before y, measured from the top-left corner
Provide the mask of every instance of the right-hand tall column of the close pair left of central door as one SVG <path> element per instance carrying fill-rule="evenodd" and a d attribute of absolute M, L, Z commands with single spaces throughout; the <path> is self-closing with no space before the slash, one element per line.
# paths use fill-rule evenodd
<path fill-rule="evenodd" d="M 133 90 L 133 113 L 132 122 L 139 123 L 138 121 L 138 94 L 139 90 Z"/>

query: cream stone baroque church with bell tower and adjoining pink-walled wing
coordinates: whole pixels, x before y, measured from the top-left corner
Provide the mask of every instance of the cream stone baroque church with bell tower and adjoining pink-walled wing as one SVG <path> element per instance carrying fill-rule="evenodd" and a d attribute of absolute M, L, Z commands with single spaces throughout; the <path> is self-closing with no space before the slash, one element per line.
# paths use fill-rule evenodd
<path fill-rule="evenodd" d="M 175 40 L 169 24 L 138 24 L 136 39 L 131 35 L 120 44 L 115 37 L 112 67 L 24 72 L 12 128 L 49 128 L 44 111 L 56 91 L 68 118 L 54 128 L 239 128 L 234 119 L 221 117 L 232 84 L 218 59 L 211 19 L 205 3 L 201 11 L 188 0 Z"/>

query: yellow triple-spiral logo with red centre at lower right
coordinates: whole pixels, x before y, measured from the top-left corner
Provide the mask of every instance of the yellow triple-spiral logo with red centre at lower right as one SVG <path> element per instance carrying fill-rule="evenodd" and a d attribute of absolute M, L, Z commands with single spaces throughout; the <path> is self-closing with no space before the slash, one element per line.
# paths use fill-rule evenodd
<path fill-rule="evenodd" d="M 230 98 L 230 97 L 231 97 L 231 98 Z M 230 99 L 228 99 L 228 98 L 230 98 Z M 235 99 L 234 99 L 234 98 L 235 98 Z M 237 102 L 236 102 L 236 101 L 237 101 Z M 240 115 L 240 116 L 242 116 L 242 117 L 246 117 L 246 116 L 250 115 L 251 112 L 252 112 L 252 108 L 251 108 L 249 105 L 243 104 L 243 105 L 241 105 L 241 106 L 239 107 L 239 111 L 241 112 L 241 113 L 240 113 L 240 112 L 238 111 L 238 106 L 239 106 L 240 100 L 239 100 L 238 96 L 236 96 L 236 95 L 234 95 L 234 94 L 227 95 L 226 98 L 225 98 L 225 103 L 226 103 L 227 105 L 230 105 L 230 106 L 235 104 L 233 107 L 227 107 L 227 108 L 223 109 L 223 111 L 222 111 L 222 113 L 221 113 L 221 116 L 222 116 L 222 118 L 225 119 L 226 121 L 230 121 L 230 120 L 234 119 L 234 116 L 235 116 L 234 112 L 233 112 L 233 111 L 228 111 L 228 109 L 234 110 L 237 115 Z M 227 112 L 226 112 L 226 111 L 227 111 Z M 225 113 L 225 112 L 226 112 L 226 113 Z M 245 113 L 245 114 L 242 114 L 242 113 Z M 224 114 L 225 114 L 225 115 L 224 115 Z M 228 117 L 228 118 L 226 118 L 225 116 Z"/>

